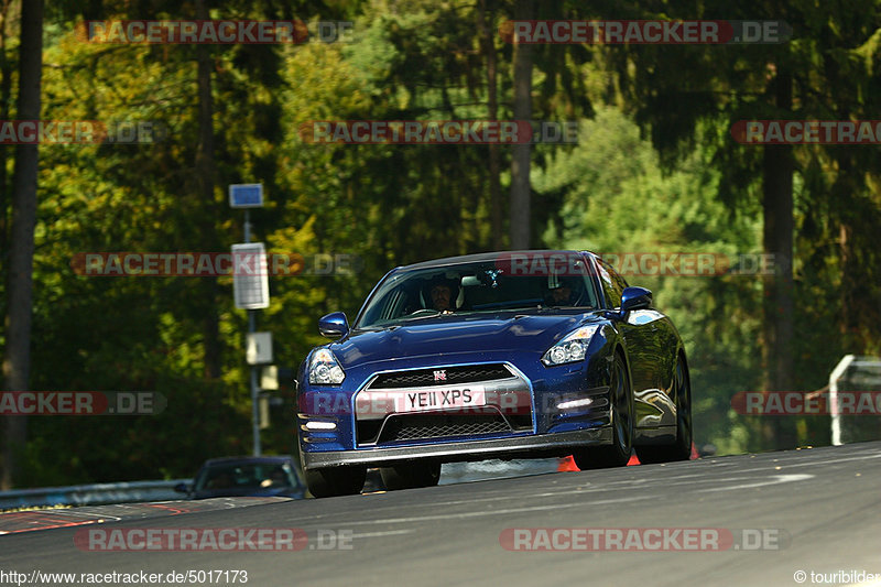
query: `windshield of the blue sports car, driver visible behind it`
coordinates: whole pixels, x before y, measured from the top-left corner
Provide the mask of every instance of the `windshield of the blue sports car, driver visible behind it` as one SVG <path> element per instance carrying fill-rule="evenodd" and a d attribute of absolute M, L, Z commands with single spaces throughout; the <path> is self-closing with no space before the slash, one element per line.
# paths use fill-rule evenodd
<path fill-rule="evenodd" d="M 509 275 L 492 261 L 396 272 L 370 297 L 356 328 L 388 327 L 446 314 L 596 308 L 589 272 L 584 273 Z"/>

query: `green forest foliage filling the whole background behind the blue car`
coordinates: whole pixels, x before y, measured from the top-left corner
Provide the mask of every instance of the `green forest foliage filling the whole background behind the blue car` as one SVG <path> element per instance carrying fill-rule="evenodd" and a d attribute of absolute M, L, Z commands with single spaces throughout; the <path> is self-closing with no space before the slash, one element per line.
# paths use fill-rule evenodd
<path fill-rule="evenodd" d="M 486 118 L 477 3 L 213 2 L 211 18 L 352 19 L 356 42 L 207 48 L 210 197 L 196 172 L 198 50 L 86 44 L 73 24 L 192 18 L 196 4 L 50 4 L 43 118 L 154 121 L 166 133 L 154 144 L 41 146 L 32 388 L 154 390 L 168 407 L 157 416 L 30 418 L 20 485 L 180 477 L 204 458 L 250 450 L 247 317 L 232 305 L 231 280 L 80 276 L 70 267 L 76 253 L 228 251 L 241 239 L 242 215 L 228 209 L 226 186 L 262 182 L 268 206 L 251 216 L 270 251 L 361 261 L 354 275 L 271 280 L 272 306 L 258 328 L 273 333 L 278 365 L 297 367 L 324 341 L 317 318 L 337 309 L 354 317 L 392 267 L 489 250 L 486 146 L 313 144 L 302 132 L 322 120 Z M 488 7 L 496 33 L 511 2 Z M 542 3 L 540 18 L 757 19 L 771 11 L 768 18 L 790 21 L 798 34 L 783 45 L 536 46 L 533 118 L 580 119 L 577 145 L 533 151 L 537 240 L 606 253 L 760 252 L 761 152 L 735 143 L 729 129 L 779 115 L 764 87 L 776 64 L 793 72 L 796 117 L 873 119 L 881 96 L 874 3 L 784 8 Z M 510 119 L 512 47 L 498 34 L 493 42 L 499 118 Z M 13 66 L 15 47 L 9 39 Z M 500 154 L 508 169 L 509 151 Z M 795 150 L 798 389 L 823 385 L 844 352 L 881 352 L 877 155 L 873 146 Z M 504 192 L 509 175 L 501 180 Z M 721 453 L 763 448 L 758 423 L 730 410 L 731 395 L 758 389 L 762 376 L 761 278 L 627 279 L 654 291 L 686 341 L 698 443 Z M 219 378 L 207 374 L 213 320 Z M 290 387 L 280 395 L 284 405 L 263 435 L 270 453 L 294 450 Z M 801 423 L 804 443 L 822 444 L 826 434 L 822 421 Z"/>

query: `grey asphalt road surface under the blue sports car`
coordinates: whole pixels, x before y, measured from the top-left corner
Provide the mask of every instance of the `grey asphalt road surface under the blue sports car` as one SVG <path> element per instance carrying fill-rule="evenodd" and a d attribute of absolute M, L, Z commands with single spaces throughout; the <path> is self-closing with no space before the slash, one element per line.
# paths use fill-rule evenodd
<path fill-rule="evenodd" d="M 308 542 L 298 543 L 303 550 L 296 552 L 222 553 L 93 552 L 75 543 L 94 529 L 206 528 L 302 529 Z M 607 550 L 504 547 L 513 544 L 508 539 L 514 531 L 507 529 L 540 528 L 623 529 L 631 537 L 634 531 L 628 529 L 671 529 L 665 535 L 674 536 L 667 543 L 672 548 L 688 545 L 670 532 L 705 529 L 701 536 L 729 536 L 735 543 L 722 541 L 721 551 L 620 552 L 613 533 L 595 530 Z M 348 547 L 322 550 L 330 546 L 331 533 Z M 519 535 L 521 546 L 547 545 L 540 533 Z M 645 548 L 649 534 L 639 535 Z M 567 545 L 563 539 L 556 544 Z M 763 547 L 752 550 L 755 545 Z M 798 585 L 795 573 L 804 570 L 803 585 L 817 585 L 812 570 L 828 578 L 836 572 L 881 574 L 881 443 L 251 504 L 0 536 L 0 570 L 33 569 L 247 570 L 247 585 L 260 587 Z M 844 580 L 826 584 L 857 583 L 838 578 Z M 0 583 L 10 583 L 2 579 L 0 574 Z"/>

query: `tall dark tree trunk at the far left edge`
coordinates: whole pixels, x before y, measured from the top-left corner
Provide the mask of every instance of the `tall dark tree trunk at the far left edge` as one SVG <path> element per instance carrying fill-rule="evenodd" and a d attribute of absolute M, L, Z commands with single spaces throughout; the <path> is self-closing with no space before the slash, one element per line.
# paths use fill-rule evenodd
<path fill-rule="evenodd" d="M 40 119 L 40 85 L 43 67 L 43 0 L 22 2 L 19 62 L 19 120 Z M 3 352 L 4 387 L 9 391 L 29 389 L 31 370 L 31 312 L 33 307 L 34 226 L 36 225 L 36 144 L 15 149 L 10 239 L 9 309 Z M 18 479 L 19 456 L 28 439 L 25 416 L 4 418 L 0 489 L 10 489 Z"/>

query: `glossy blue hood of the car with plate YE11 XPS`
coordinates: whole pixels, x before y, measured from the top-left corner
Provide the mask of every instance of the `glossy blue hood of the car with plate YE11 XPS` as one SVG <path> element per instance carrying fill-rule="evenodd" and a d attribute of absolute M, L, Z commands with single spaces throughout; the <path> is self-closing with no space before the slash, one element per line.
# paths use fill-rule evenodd
<path fill-rule="evenodd" d="M 594 312 L 504 312 L 415 319 L 380 330 L 352 330 L 329 346 L 344 369 L 396 358 L 487 350 L 544 352 Z"/>

